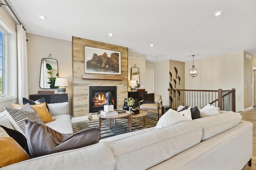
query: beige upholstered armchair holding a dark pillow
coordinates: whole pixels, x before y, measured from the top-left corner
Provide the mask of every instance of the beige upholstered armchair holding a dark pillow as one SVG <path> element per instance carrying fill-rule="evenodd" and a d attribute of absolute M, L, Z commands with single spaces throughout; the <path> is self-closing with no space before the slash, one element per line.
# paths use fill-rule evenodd
<path fill-rule="evenodd" d="M 139 109 L 140 110 L 153 110 L 158 112 L 159 119 L 159 110 L 162 109 L 162 96 L 154 95 L 154 103 L 143 103 L 144 100 L 139 101 Z"/>

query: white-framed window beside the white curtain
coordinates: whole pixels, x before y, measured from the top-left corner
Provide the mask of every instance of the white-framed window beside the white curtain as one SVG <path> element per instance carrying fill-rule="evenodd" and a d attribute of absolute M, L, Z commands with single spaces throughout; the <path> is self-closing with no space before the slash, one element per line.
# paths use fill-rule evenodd
<path fill-rule="evenodd" d="M 16 32 L 0 16 L 0 101 L 17 96 L 15 56 Z"/>

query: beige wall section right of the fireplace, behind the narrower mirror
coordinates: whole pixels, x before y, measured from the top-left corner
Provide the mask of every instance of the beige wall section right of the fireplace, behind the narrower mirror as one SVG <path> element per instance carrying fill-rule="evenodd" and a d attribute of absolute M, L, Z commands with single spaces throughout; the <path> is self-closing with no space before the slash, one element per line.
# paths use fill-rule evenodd
<path fill-rule="evenodd" d="M 128 51 L 128 53 L 132 53 L 132 52 Z M 132 54 L 138 54 L 138 53 L 132 53 Z M 144 86 L 146 81 L 146 77 L 145 77 L 146 56 L 142 54 L 138 54 L 138 55 L 141 55 L 141 59 L 128 57 L 128 81 L 130 80 L 130 77 L 131 77 L 131 68 L 134 67 L 134 65 L 136 64 L 136 67 L 138 67 L 140 71 L 140 87 L 136 89 L 143 89 L 142 87 Z M 128 91 L 130 91 L 130 87 L 128 87 Z"/>

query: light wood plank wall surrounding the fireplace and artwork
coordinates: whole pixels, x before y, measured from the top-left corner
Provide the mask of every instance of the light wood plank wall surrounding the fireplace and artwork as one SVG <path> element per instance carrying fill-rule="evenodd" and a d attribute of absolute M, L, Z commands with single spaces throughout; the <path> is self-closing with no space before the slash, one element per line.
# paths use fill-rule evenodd
<path fill-rule="evenodd" d="M 121 52 L 121 75 L 123 80 L 82 79 L 84 73 L 84 47 L 95 47 Z M 128 97 L 128 48 L 103 42 L 72 37 L 73 53 L 73 117 L 89 113 L 89 86 L 116 86 L 117 109 L 122 109 L 124 98 Z M 93 74 L 90 74 L 93 75 Z M 95 74 L 102 75 L 102 74 Z M 103 74 L 104 75 L 104 74 Z M 115 75 L 107 75 L 115 76 Z M 84 76 L 86 77 L 86 76 Z"/>

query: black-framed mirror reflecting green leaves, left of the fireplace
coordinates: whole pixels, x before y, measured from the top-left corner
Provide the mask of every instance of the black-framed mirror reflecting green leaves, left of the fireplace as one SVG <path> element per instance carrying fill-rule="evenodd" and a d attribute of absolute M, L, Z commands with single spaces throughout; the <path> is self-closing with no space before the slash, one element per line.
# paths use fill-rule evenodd
<path fill-rule="evenodd" d="M 53 65 L 55 63 L 56 65 Z M 59 77 L 58 73 L 58 61 L 56 59 L 43 58 L 41 60 L 39 87 L 41 89 L 57 89 L 58 87 L 54 86 L 54 83 L 55 79 Z"/>

